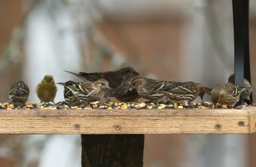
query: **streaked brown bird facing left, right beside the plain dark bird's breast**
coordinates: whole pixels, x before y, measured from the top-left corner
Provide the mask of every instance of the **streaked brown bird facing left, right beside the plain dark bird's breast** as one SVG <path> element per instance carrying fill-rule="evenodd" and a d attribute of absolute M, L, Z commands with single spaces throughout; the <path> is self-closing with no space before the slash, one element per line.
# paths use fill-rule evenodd
<path fill-rule="evenodd" d="M 166 100 L 164 91 L 175 88 L 175 86 L 179 84 L 180 83 L 159 81 L 145 77 L 134 77 L 131 89 L 134 88 L 144 99 L 152 100 L 153 102 L 162 102 Z"/>

